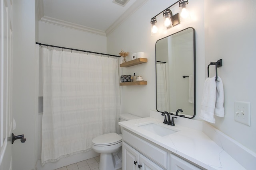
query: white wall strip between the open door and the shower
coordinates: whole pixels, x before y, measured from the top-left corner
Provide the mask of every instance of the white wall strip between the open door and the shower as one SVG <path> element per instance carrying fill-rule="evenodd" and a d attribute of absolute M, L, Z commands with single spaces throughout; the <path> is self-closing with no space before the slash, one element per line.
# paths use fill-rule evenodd
<path fill-rule="evenodd" d="M 13 24 L 13 106 L 15 135 L 24 134 L 25 143 L 14 142 L 14 170 L 35 167 L 35 2 L 15 0 Z"/>

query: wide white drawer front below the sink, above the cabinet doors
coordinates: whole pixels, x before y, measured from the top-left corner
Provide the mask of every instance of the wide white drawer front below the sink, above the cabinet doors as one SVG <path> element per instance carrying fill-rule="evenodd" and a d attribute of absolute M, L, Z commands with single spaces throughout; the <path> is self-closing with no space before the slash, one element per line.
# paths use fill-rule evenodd
<path fill-rule="evenodd" d="M 144 154 L 153 162 L 167 169 L 167 152 L 136 137 L 135 135 L 129 133 L 128 131 L 123 131 L 123 141 L 128 143 L 134 149 L 138 150 L 140 153 Z"/>

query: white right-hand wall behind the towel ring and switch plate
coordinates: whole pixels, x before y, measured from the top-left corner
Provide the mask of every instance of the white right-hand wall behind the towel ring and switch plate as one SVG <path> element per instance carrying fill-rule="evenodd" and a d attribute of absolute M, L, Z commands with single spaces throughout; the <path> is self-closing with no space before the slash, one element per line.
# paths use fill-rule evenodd
<path fill-rule="evenodd" d="M 225 117 L 214 127 L 256 152 L 256 1 L 205 1 L 205 65 L 223 59 Z M 206 72 L 207 70 L 205 70 Z M 215 71 L 212 71 L 215 74 Z M 250 102 L 251 126 L 234 121 L 234 101 Z"/>

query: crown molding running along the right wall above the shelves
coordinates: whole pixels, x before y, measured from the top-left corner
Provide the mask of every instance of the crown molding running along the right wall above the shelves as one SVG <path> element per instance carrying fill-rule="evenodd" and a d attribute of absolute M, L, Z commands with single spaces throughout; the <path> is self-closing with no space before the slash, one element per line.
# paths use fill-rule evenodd
<path fill-rule="evenodd" d="M 119 25 L 121 25 L 124 20 L 126 20 L 129 16 L 131 16 L 134 12 L 136 12 L 140 7 L 142 7 L 148 0 L 137 0 L 128 8 L 108 29 L 106 29 L 105 33 L 108 36 L 112 31 L 114 31 Z"/>

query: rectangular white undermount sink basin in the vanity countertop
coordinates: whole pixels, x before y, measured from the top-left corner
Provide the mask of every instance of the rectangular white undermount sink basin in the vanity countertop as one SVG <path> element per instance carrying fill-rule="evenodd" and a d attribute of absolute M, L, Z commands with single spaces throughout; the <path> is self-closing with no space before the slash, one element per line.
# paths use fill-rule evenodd
<path fill-rule="evenodd" d="M 151 133 L 154 133 L 156 135 L 162 136 L 162 137 L 177 132 L 177 131 L 174 131 L 172 129 L 168 129 L 166 127 L 162 127 L 162 126 L 154 124 L 154 123 L 149 123 L 149 124 L 146 124 L 146 125 L 140 125 L 138 127 L 142 128 L 142 129 L 145 129 L 145 130 L 147 130 Z"/>

